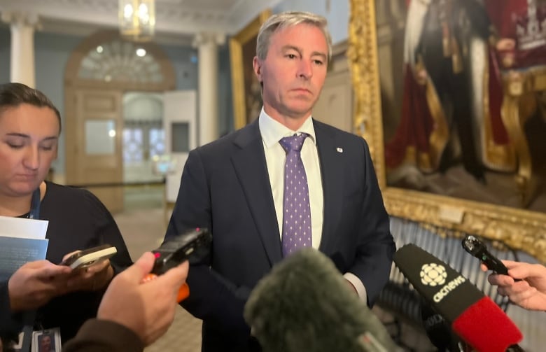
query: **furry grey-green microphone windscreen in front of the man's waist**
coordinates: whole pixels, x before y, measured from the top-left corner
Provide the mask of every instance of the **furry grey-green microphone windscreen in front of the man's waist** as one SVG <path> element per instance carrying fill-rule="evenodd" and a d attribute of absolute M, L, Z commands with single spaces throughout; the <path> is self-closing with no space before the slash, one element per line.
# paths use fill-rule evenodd
<path fill-rule="evenodd" d="M 313 248 L 288 256 L 258 282 L 244 318 L 264 352 L 400 350 L 332 260 Z"/>

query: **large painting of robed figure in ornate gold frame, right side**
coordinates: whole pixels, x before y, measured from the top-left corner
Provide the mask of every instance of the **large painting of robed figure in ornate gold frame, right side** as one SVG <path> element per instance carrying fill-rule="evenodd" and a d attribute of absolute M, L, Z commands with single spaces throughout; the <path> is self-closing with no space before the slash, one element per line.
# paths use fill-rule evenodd
<path fill-rule="evenodd" d="M 350 1 L 353 122 L 388 212 L 546 262 L 546 5 Z"/>

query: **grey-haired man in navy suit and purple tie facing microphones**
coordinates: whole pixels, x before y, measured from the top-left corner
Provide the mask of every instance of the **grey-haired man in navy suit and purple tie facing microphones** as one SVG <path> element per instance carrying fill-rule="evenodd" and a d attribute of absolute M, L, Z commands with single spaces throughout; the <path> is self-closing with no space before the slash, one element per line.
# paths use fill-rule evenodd
<path fill-rule="evenodd" d="M 259 351 L 244 304 L 258 280 L 297 249 L 288 245 L 287 224 L 298 214 L 283 204 L 285 161 L 293 161 L 283 137 L 304 141 L 296 157 L 308 186 L 297 201 L 311 219 L 297 225 L 309 227 L 300 233 L 304 244 L 332 258 L 369 306 L 388 280 L 395 245 L 367 143 L 311 118 L 331 50 L 324 17 L 270 17 L 253 60 L 262 84 L 258 120 L 190 152 L 165 238 L 191 227 L 213 235 L 209 258 L 190 263 L 190 297 L 182 302 L 203 320 L 202 351 Z"/>

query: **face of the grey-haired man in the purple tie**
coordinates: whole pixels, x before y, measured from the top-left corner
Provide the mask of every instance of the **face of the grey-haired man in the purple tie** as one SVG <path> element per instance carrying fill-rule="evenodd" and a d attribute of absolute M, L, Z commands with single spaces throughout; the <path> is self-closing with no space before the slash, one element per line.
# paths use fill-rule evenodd
<path fill-rule="evenodd" d="M 254 58 L 254 72 L 263 83 L 265 112 L 287 125 L 311 115 L 328 67 L 328 43 L 318 27 L 297 24 L 270 37 L 267 57 Z"/>

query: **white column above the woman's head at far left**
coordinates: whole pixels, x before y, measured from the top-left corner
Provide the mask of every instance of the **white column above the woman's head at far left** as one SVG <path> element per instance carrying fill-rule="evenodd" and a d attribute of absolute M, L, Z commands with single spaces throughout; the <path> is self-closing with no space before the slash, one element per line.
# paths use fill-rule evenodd
<path fill-rule="evenodd" d="M 2 20 L 11 27 L 10 81 L 34 88 L 34 28 L 38 25 L 38 16 L 32 13 L 3 12 Z"/>

